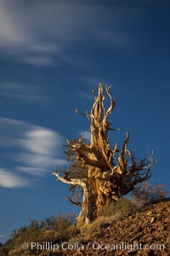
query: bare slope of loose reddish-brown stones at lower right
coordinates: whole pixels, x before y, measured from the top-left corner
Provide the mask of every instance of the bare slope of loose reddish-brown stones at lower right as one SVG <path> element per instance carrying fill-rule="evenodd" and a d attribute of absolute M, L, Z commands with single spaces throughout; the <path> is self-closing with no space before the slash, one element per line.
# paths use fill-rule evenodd
<path fill-rule="evenodd" d="M 121 221 L 100 224 L 100 228 L 95 237 L 85 240 L 82 236 L 81 241 L 77 236 L 68 245 L 71 250 L 53 255 L 170 255 L 169 200 L 151 204 Z"/>

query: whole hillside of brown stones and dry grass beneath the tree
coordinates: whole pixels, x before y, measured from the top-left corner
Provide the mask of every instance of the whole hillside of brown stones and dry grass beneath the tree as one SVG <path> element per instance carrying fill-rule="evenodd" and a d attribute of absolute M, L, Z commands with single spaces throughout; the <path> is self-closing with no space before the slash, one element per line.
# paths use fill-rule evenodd
<path fill-rule="evenodd" d="M 72 225 L 60 231 L 42 230 L 38 234 L 32 250 L 30 241 L 26 241 L 26 249 L 21 239 L 20 249 L 16 242 L 14 246 L 13 238 L 0 248 L 0 255 L 169 255 L 170 199 L 150 204 L 121 220 L 103 217 L 79 230 Z"/>

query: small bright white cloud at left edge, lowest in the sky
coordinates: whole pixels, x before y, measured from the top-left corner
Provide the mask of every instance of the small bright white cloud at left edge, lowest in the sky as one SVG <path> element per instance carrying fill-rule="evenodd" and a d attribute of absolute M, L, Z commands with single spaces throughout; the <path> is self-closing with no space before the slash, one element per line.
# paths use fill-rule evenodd
<path fill-rule="evenodd" d="M 13 189 L 20 187 L 27 187 L 28 181 L 24 177 L 20 177 L 14 173 L 8 172 L 0 168 L 0 187 Z"/>

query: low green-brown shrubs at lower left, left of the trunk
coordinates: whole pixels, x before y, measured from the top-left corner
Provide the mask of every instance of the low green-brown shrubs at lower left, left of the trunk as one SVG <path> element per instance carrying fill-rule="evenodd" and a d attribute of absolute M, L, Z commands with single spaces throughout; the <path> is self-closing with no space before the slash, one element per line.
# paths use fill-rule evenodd
<path fill-rule="evenodd" d="M 25 255 L 25 251 L 21 249 L 21 244 L 27 242 L 31 244 L 31 241 L 50 241 L 60 242 L 65 241 L 77 234 L 78 230 L 74 229 L 75 214 L 68 213 L 67 215 L 59 214 L 58 216 L 52 216 L 45 218 L 42 221 L 30 219 L 28 226 L 20 227 L 18 230 L 14 230 L 11 234 L 11 238 L 0 247 L 1 256 L 18 256 Z M 29 250 L 26 250 L 28 256 Z M 30 252 L 29 255 L 31 255 Z M 36 253 L 36 252 L 35 252 Z M 33 254 L 38 255 L 38 254 Z"/>

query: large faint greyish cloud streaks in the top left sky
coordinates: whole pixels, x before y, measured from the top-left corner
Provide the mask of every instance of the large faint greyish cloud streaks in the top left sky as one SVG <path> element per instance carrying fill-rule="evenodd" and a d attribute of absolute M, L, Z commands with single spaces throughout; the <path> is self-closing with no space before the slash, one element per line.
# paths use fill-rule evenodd
<path fill-rule="evenodd" d="M 67 49 L 75 44 L 85 40 L 113 47 L 127 43 L 119 25 L 124 20 L 122 13 L 127 15 L 127 9 L 116 4 L 67 0 L 23 4 L 21 0 L 2 0 L 0 52 L 30 65 L 51 66 L 72 60 L 79 63 L 80 58 L 67 55 Z"/>

